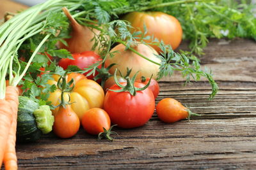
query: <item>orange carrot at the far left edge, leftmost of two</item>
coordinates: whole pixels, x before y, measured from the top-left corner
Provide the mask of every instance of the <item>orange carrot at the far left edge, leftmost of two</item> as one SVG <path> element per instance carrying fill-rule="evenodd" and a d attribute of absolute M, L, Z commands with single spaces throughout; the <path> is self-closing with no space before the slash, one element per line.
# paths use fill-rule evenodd
<path fill-rule="evenodd" d="M 11 124 L 12 106 L 5 99 L 0 99 L 0 167 L 2 166 Z"/>

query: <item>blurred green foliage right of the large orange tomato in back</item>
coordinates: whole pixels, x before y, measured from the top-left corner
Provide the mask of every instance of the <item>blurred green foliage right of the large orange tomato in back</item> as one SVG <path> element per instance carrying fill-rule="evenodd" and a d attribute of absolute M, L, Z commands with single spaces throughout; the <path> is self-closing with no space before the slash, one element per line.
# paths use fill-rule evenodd
<path fill-rule="evenodd" d="M 256 17 L 252 9 L 250 1 L 220 0 L 178 4 L 159 10 L 178 18 L 184 39 L 191 42 L 191 53 L 202 55 L 209 38 L 255 39 Z"/>

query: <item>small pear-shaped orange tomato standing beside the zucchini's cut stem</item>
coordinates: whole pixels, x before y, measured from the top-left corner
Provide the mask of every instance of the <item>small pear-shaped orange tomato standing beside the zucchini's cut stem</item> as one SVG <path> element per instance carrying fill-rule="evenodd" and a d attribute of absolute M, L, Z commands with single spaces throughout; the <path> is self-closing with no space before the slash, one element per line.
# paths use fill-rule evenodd
<path fill-rule="evenodd" d="M 53 131 L 60 138 L 70 138 L 74 136 L 80 127 L 80 121 L 70 105 L 59 107 L 54 116 Z"/>

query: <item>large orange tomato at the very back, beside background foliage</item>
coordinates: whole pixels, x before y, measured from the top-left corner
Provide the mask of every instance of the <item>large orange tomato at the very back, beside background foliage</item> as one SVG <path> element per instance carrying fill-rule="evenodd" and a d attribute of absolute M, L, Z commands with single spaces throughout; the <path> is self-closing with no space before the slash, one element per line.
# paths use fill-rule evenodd
<path fill-rule="evenodd" d="M 131 12 L 125 15 L 124 20 L 131 22 L 132 32 L 144 31 L 144 24 L 147 27 L 146 36 L 153 36 L 159 41 L 163 40 L 166 45 L 171 45 L 173 50 L 176 49 L 182 40 L 182 27 L 179 20 L 159 11 L 148 12 Z M 150 40 L 144 40 L 150 43 Z M 157 52 L 160 52 L 160 48 L 156 45 L 151 45 Z"/>

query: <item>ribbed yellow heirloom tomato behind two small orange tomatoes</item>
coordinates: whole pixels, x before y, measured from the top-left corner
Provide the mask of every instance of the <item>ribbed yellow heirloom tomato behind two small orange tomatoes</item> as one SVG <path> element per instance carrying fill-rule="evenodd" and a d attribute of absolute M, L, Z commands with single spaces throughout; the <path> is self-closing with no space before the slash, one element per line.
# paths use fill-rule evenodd
<path fill-rule="evenodd" d="M 49 85 L 56 85 L 60 78 L 59 75 L 52 76 L 54 80 L 49 80 Z M 74 79 L 74 89 L 71 92 L 65 92 L 65 101 L 68 101 L 68 94 L 70 96 L 70 103 L 72 110 L 77 114 L 81 120 L 84 113 L 90 108 L 102 108 L 104 100 L 104 91 L 102 87 L 93 80 L 88 80 L 83 74 L 70 73 L 67 75 L 67 82 Z M 61 90 L 57 89 L 52 92 L 48 98 L 53 106 L 58 106 L 61 100 Z M 58 112 L 59 108 L 52 110 L 53 115 Z"/>

